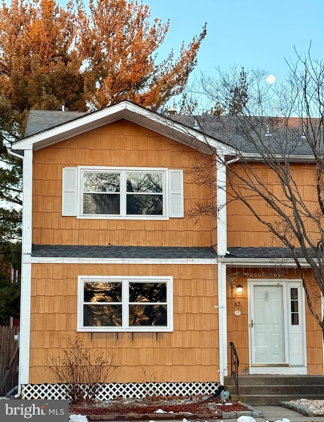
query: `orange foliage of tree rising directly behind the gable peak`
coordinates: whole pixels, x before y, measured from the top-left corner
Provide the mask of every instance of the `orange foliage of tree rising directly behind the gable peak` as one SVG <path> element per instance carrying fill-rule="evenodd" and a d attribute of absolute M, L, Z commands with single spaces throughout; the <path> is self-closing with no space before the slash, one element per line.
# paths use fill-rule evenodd
<path fill-rule="evenodd" d="M 77 46 L 87 68 L 86 97 L 94 108 L 129 99 L 156 110 L 184 89 L 206 28 L 173 63 L 173 54 L 155 64 L 169 22 L 150 22 L 147 5 L 124 0 L 90 1 L 90 14 L 78 4 Z M 95 85 L 93 80 L 96 80 Z"/>

